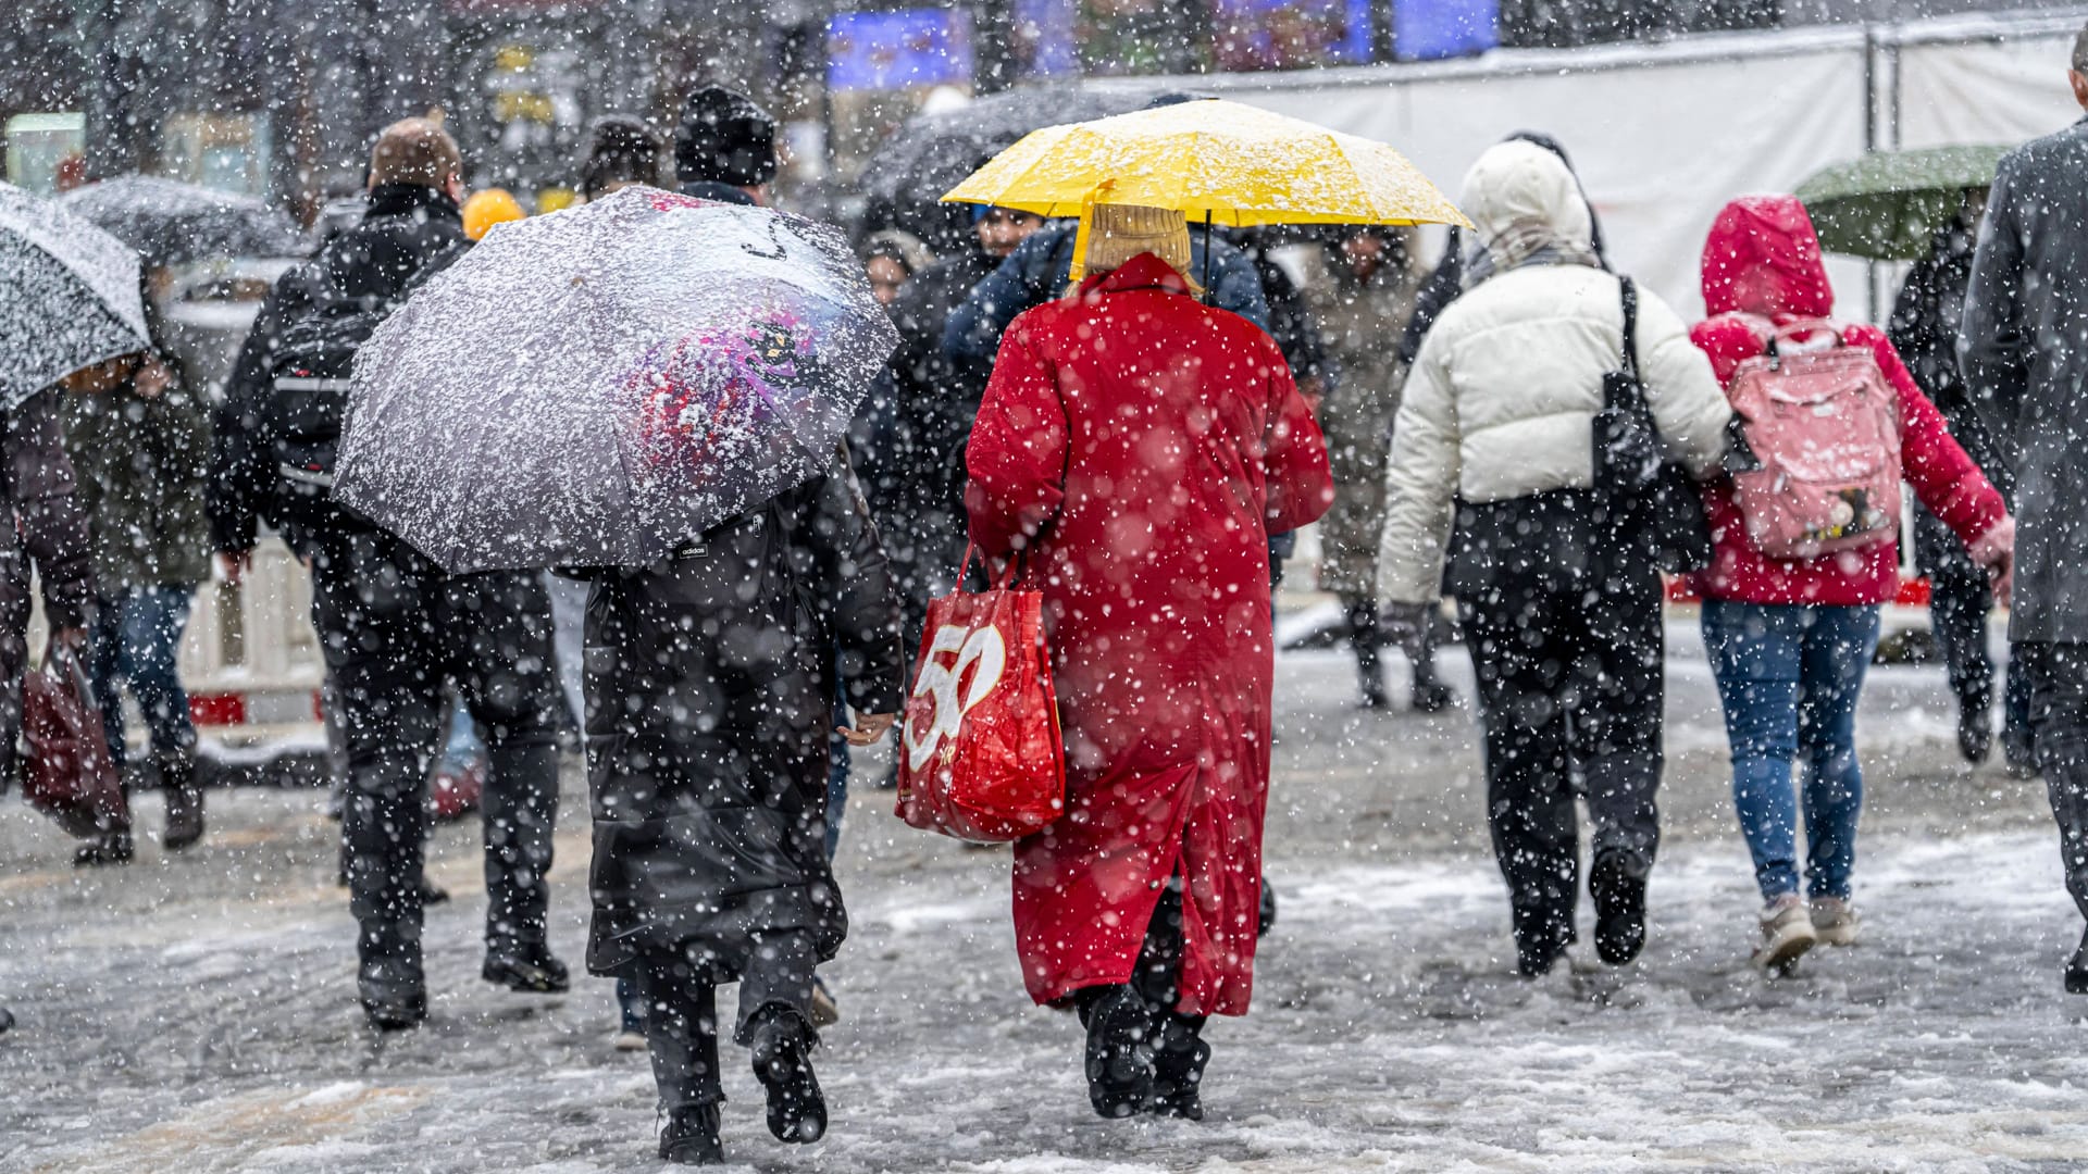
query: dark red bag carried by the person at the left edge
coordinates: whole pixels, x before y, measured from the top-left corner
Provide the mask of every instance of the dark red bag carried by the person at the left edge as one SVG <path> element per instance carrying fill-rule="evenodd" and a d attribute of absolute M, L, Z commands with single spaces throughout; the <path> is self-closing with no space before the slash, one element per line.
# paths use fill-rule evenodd
<path fill-rule="evenodd" d="M 129 827 L 129 800 L 109 760 L 102 710 L 71 648 L 52 645 L 44 666 L 23 677 L 21 733 L 29 744 L 21 771 L 29 806 L 79 838 Z"/>

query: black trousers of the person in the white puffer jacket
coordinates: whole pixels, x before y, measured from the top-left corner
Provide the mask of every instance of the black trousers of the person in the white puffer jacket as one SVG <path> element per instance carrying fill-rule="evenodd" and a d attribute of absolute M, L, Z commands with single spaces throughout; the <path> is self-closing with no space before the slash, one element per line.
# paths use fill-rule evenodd
<path fill-rule="evenodd" d="M 1574 794 L 1587 798 L 1595 861 L 1645 877 L 1660 848 L 1660 577 L 1645 570 L 1604 593 L 1501 577 L 1460 595 L 1457 610 L 1516 942 L 1549 953 L 1574 940 Z"/>

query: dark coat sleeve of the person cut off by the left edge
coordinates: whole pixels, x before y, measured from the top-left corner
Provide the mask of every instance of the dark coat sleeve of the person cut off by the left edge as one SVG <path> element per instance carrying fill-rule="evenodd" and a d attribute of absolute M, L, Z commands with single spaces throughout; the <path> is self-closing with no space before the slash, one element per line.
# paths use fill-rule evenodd
<path fill-rule="evenodd" d="M 8 412 L 4 447 L 6 495 L 44 581 L 50 625 L 86 627 L 94 600 L 94 543 L 88 516 L 73 499 L 73 457 L 58 426 L 58 393 L 40 393 Z"/>

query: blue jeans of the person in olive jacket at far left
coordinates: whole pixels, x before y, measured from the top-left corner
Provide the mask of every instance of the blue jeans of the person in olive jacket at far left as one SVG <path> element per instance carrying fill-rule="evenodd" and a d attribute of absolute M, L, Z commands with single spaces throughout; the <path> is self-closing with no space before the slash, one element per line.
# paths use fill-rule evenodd
<path fill-rule="evenodd" d="M 196 748 L 196 725 L 188 717 L 188 691 L 175 656 L 194 587 L 127 587 L 102 595 L 94 618 L 94 648 L 88 673 L 94 677 L 94 700 L 102 706 L 102 733 L 109 754 L 123 765 L 123 694 L 129 685 L 144 710 L 155 754 L 188 754 Z"/>

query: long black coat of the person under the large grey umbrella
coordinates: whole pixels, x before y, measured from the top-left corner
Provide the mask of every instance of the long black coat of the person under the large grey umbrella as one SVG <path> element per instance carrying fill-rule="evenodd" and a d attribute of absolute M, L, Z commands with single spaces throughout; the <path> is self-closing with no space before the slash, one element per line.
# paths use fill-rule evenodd
<path fill-rule="evenodd" d="M 848 934 L 825 852 L 835 673 L 856 712 L 900 706 L 898 602 L 846 460 L 647 570 L 595 574 L 587 965 L 689 950 L 739 976 L 752 934 Z"/>

